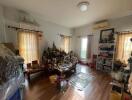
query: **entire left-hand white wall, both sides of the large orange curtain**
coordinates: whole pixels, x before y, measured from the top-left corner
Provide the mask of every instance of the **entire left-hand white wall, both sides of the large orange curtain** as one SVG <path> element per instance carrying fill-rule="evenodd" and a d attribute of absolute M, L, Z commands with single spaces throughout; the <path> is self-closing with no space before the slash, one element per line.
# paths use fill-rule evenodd
<path fill-rule="evenodd" d="M 20 25 L 19 19 L 22 16 L 29 17 L 29 15 L 23 14 L 14 8 L 0 6 L 0 16 L 1 15 L 5 19 L 6 27 L 4 27 L 4 28 L 6 31 L 5 32 L 6 33 L 6 39 L 3 41 L 2 38 L 0 37 L 0 40 L 2 42 L 12 42 L 17 47 L 18 46 L 17 31 L 15 31 L 13 29 L 9 29 L 9 28 L 7 28 L 7 26 L 8 25 L 19 26 Z M 30 17 L 32 20 L 32 16 L 30 16 Z M 1 19 L 2 18 L 0 17 L 0 32 L 3 33 L 2 31 L 4 28 L 1 27 Z M 43 49 L 46 48 L 47 46 L 51 47 L 53 42 L 55 42 L 56 46 L 58 48 L 60 48 L 60 36 L 58 34 L 71 35 L 71 33 L 72 33 L 71 29 L 66 28 L 64 26 L 61 26 L 61 25 L 58 25 L 58 24 L 55 24 L 52 22 L 47 22 L 44 19 L 40 19 L 38 17 L 35 18 L 35 20 L 40 25 L 37 28 L 39 30 L 43 31 L 43 37 L 41 38 L 41 40 L 39 40 L 39 42 L 40 42 L 40 55 L 42 54 Z M 3 19 L 2 19 L 2 21 L 3 21 Z M 2 28 L 2 30 L 1 30 L 1 28 Z"/>

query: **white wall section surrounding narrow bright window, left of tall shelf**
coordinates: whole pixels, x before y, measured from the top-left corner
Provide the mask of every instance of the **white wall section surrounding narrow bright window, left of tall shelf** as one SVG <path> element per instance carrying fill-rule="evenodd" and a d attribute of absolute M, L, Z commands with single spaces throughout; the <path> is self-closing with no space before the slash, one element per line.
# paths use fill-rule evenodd
<path fill-rule="evenodd" d="M 92 42 L 92 54 L 97 54 L 98 52 L 98 41 L 99 41 L 99 30 L 93 30 L 92 29 L 93 24 L 81 26 L 74 29 L 74 39 L 73 39 L 73 46 L 74 46 L 74 52 L 77 53 L 77 55 L 80 55 L 80 38 L 87 35 L 93 35 L 93 42 Z"/>

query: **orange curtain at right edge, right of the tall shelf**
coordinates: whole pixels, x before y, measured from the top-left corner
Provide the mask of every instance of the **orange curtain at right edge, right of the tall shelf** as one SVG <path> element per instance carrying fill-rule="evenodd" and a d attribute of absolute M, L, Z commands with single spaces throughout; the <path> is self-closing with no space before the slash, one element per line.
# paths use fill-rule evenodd
<path fill-rule="evenodd" d="M 132 52 L 132 33 L 120 33 L 117 37 L 117 59 L 128 63 L 128 58 Z"/>

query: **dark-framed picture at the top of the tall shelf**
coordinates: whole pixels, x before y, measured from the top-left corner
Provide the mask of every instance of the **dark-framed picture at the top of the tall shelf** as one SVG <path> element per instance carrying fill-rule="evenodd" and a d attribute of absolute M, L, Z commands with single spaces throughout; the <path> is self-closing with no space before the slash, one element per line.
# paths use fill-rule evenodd
<path fill-rule="evenodd" d="M 114 43 L 114 28 L 100 31 L 100 43 Z"/>

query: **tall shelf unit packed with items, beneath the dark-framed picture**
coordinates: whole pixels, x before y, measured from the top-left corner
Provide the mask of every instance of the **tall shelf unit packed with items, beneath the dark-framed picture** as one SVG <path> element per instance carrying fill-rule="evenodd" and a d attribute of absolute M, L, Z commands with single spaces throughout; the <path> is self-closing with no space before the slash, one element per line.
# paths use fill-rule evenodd
<path fill-rule="evenodd" d="M 114 31 L 113 31 L 114 32 Z M 105 33 L 104 33 L 105 34 Z M 103 34 L 103 35 L 104 35 Z M 100 33 L 100 37 L 102 34 Z M 114 34 L 115 37 L 115 34 Z M 110 72 L 113 68 L 114 55 L 116 51 L 116 38 L 110 40 L 102 40 L 100 38 L 98 46 L 98 58 L 96 68 L 102 71 Z"/>

